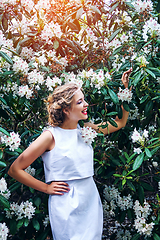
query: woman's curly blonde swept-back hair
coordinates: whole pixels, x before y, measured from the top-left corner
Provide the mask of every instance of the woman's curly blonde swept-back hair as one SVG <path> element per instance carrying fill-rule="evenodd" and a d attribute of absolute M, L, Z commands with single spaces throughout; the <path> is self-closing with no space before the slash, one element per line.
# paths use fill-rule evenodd
<path fill-rule="evenodd" d="M 47 99 L 48 123 L 61 126 L 65 119 L 63 109 L 70 108 L 73 96 L 79 87 L 76 83 L 66 83 L 57 87 Z"/>

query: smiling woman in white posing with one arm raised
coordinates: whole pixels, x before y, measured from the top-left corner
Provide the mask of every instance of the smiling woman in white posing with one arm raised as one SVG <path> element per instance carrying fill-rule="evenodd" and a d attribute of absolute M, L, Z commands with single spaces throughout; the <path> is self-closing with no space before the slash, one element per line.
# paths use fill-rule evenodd
<path fill-rule="evenodd" d="M 122 76 L 128 87 L 131 70 Z M 101 240 L 102 204 L 93 181 L 93 150 L 82 137 L 79 120 L 87 119 L 88 104 L 80 88 L 68 83 L 48 98 L 49 123 L 45 130 L 11 165 L 8 174 L 17 181 L 49 194 L 49 217 L 54 240 Z M 118 128 L 126 124 L 123 110 Z M 97 128 L 97 126 L 93 125 Z M 107 130 L 104 130 L 107 134 Z M 24 170 L 42 155 L 46 183 Z"/>

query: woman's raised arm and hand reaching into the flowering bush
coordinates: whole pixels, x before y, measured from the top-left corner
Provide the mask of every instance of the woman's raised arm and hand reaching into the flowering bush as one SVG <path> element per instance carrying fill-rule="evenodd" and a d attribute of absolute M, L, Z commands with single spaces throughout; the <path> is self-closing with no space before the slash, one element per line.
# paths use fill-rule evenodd
<path fill-rule="evenodd" d="M 129 83 L 129 75 L 132 72 L 132 69 L 129 69 L 128 71 L 124 72 L 121 78 L 121 81 L 124 85 L 125 88 L 128 88 L 128 83 Z M 117 127 L 112 126 L 109 122 L 107 122 L 108 126 L 106 128 L 102 128 L 102 125 L 106 125 L 106 123 L 99 123 L 99 124 L 94 124 L 94 123 L 84 123 L 84 126 L 88 126 L 93 128 L 94 130 L 96 130 L 97 132 L 102 132 L 103 134 L 109 134 L 115 131 L 118 131 L 119 129 L 121 129 L 122 127 L 125 127 L 126 123 L 127 123 L 127 119 L 128 119 L 128 115 L 129 112 L 127 112 L 123 106 L 121 106 L 122 108 L 122 113 L 123 116 L 121 119 L 119 119 L 118 117 L 116 117 L 115 122 L 117 123 Z"/>

